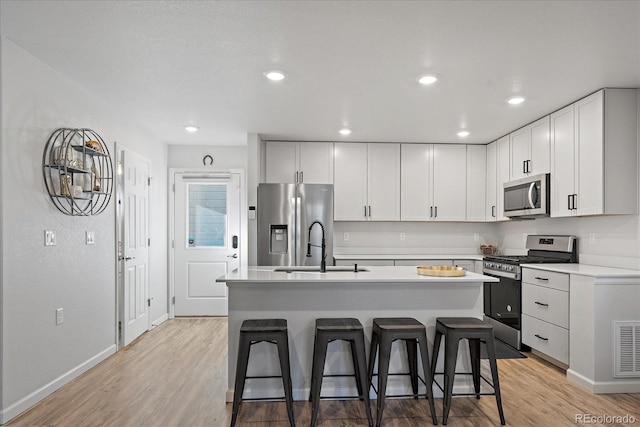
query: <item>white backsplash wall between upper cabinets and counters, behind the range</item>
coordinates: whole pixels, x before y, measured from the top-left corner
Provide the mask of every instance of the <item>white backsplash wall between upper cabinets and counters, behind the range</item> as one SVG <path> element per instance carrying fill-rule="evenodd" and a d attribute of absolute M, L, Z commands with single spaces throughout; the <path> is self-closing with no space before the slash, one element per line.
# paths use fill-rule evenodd
<path fill-rule="evenodd" d="M 579 239 L 581 263 L 640 269 L 638 215 L 499 223 L 338 221 L 334 223 L 334 252 L 342 255 L 471 255 L 480 253 L 481 244 L 496 243 L 499 253 L 519 255 L 526 253 L 524 239 L 528 234 L 572 234 Z"/>

